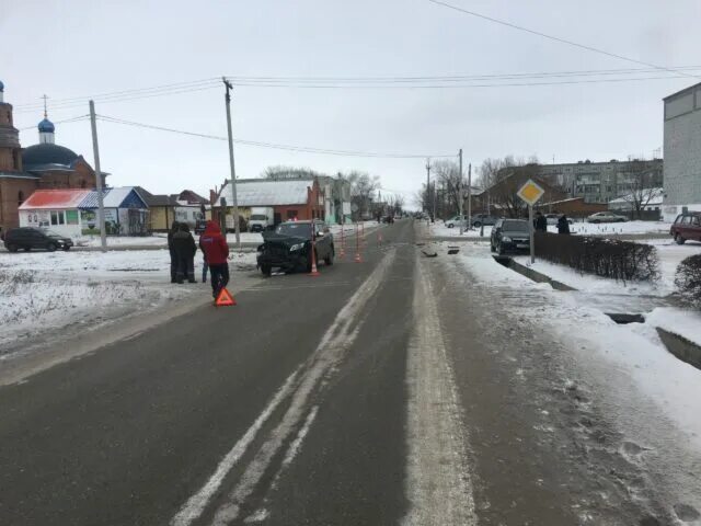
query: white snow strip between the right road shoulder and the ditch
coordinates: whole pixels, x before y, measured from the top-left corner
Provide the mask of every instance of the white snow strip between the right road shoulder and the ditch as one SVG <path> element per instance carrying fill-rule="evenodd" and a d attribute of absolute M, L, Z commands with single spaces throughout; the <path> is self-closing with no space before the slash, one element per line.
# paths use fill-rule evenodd
<path fill-rule="evenodd" d="M 586 386 L 587 398 L 600 399 L 628 441 L 622 454 L 629 461 L 657 462 L 679 481 L 681 490 L 675 485 L 674 491 L 699 488 L 701 370 L 677 359 L 659 340 L 655 327 L 669 320 L 669 311 L 655 311 L 646 323 L 619 325 L 602 310 L 583 305 L 578 294 L 556 291 L 499 265 L 489 248 L 470 245 L 449 256 L 447 242 L 441 244 L 441 261 L 498 301 L 505 316 L 528 320 L 536 331 L 559 342 L 558 352 L 570 363 L 571 380 L 563 389 L 582 392 Z M 685 318 L 687 336 L 699 334 L 699 321 Z M 529 373 L 533 374 L 524 371 Z M 690 504 L 701 505 L 696 490 L 686 496 Z"/>

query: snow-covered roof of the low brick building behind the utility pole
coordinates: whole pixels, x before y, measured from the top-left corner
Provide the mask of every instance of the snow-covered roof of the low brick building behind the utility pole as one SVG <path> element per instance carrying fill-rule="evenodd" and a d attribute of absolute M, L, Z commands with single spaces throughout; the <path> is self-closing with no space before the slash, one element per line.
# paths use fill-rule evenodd
<path fill-rule="evenodd" d="M 306 205 L 307 188 L 313 184 L 314 181 L 311 179 L 237 181 L 237 201 L 239 206 Z M 229 183 L 221 190 L 220 195 L 227 199 L 227 205 L 231 205 Z M 221 206 L 221 197 L 215 206 Z"/>

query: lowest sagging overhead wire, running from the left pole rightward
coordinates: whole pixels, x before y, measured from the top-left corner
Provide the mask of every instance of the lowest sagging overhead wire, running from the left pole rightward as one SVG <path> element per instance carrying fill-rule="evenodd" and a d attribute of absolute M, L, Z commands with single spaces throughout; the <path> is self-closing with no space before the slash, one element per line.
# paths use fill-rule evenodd
<path fill-rule="evenodd" d="M 210 134 L 199 134 L 199 133 L 195 133 L 195 132 L 186 132 L 186 130 L 182 130 L 182 129 L 168 128 L 165 126 L 156 126 L 156 125 L 152 125 L 152 124 L 136 123 L 136 122 L 133 122 L 133 121 L 125 121 L 125 119 L 122 119 L 122 118 L 108 117 L 108 116 L 105 116 L 105 115 L 97 115 L 97 118 L 100 121 L 103 121 L 103 122 L 106 122 L 106 123 L 123 124 L 123 125 L 127 125 L 127 126 L 136 126 L 136 127 L 139 127 L 139 128 L 154 129 L 154 130 L 159 130 L 159 132 L 168 132 L 168 133 L 171 133 L 171 134 L 181 134 L 181 135 L 187 135 L 187 136 L 192 136 L 192 137 L 199 137 L 199 138 L 212 139 L 212 140 L 228 140 L 227 137 L 223 137 L 223 136 L 210 135 Z M 242 146 L 251 146 L 251 147 L 257 147 L 257 148 L 271 148 L 271 149 L 277 149 L 277 150 L 296 151 L 296 152 L 303 152 L 303 153 L 319 153 L 319 155 L 325 155 L 325 156 L 341 156 L 341 157 L 365 157 L 365 158 L 384 158 L 384 159 L 424 159 L 425 157 L 434 157 L 434 158 L 455 157 L 453 153 L 451 153 L 451 155 L 426 156 L 426 155 L 415 155 L 415 153 L 409 153 L 409 155 L 406 155 L 406 153 L 379 153 L 379 152 L 357 151 L 357 150 L 336 150 L 336 149 L 329 149 L 329 148 L 315 148 L 315 147 L 310 147 L 310 146 L 281 145 L 281 144 L 276 144 L 276 142 L 264 142 L 264 141 L 245 140 L 245 139 L 233 139 L 233 142 L 235 142 L 238 145 L 242 145 Z"/>

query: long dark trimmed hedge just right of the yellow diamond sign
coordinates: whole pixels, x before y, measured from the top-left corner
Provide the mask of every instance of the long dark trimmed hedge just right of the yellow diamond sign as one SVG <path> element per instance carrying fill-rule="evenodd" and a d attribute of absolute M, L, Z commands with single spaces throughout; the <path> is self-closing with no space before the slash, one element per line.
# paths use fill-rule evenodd
<path fill-rule="evenodd" d="M 650 244 L 538 232 L 536 254 L 581 273 L 616 281 L 654 282 L 659 278 L 657 249 Z"/>

